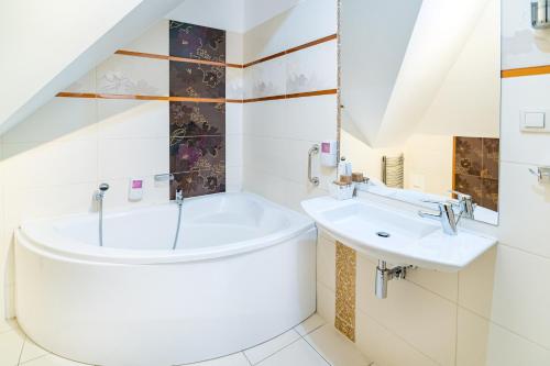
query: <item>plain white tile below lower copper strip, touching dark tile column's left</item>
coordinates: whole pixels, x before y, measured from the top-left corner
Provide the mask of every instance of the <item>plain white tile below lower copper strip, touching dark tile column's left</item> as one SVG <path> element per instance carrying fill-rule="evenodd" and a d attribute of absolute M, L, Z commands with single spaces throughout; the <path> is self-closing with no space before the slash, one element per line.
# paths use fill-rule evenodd
<path fill-rule="evenodd" d="M 154 100 L 99 99 L 100 138 L 168 137 L 168 104 Z"/>

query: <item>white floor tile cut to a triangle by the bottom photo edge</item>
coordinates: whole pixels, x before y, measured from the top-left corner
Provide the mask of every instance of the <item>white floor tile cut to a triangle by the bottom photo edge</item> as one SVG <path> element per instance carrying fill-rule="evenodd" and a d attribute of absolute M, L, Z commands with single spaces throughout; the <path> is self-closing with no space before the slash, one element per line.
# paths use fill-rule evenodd
<path fill-rule="evenodd" d="M 329 364 L 304 340 L 264 359 L 260 366 L 328 366 Z"/>

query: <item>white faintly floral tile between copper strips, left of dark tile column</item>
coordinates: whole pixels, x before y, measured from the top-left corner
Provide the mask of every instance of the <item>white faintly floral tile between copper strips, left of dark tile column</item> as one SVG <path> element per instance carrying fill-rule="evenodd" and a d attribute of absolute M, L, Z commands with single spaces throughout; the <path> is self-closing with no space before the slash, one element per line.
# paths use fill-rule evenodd
<path fill-rule="evenodd" d="M 97 92 L 109 95 L 168 95 L 168 62 L 112 55 L 97 68 Z"/>

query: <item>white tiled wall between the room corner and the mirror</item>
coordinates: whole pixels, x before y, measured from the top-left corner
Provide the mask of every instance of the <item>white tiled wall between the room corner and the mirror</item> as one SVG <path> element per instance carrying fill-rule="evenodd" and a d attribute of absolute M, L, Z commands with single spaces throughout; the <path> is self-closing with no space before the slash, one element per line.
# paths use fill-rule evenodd
<path fill-rule="evenodd" d="M 316 16 L 310 16 L 316 14 Z M 276 54 L 337 32 L 337 1 L 307 0 L 244 34 L 244 62 Z M 244 98 L 337 88 L 337 42 L 244 69 Z M 319 188 L 307 181 L 312 144 L 337 138 L 337 96 L 244 104 L 243 185 L 295 210 L 307 197 L 326 195 L 333 169 L 316 159 Z"/>

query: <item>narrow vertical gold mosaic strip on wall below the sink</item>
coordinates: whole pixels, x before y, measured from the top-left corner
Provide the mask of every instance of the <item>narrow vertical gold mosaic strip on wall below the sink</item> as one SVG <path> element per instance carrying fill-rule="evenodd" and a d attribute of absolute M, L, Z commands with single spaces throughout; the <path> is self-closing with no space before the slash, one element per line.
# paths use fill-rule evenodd
<path fill-rule="evenodd" d="M 355 342 L 356 252 L 337 242 L 337 293 L 334 326 Z"/>

